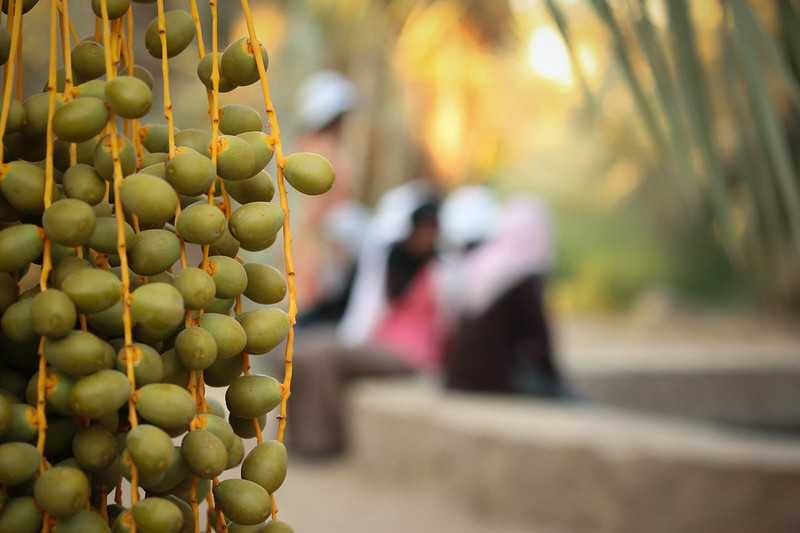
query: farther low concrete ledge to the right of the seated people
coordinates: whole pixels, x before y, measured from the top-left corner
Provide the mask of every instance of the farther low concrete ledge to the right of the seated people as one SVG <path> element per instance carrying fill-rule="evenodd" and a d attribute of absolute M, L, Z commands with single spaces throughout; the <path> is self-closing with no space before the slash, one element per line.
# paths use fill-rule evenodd
<path fill-rule="evenodd" d="M 800 430 L 800 336 L 757 320 L 557 324 L 561 367 L 601 403 Z"/>

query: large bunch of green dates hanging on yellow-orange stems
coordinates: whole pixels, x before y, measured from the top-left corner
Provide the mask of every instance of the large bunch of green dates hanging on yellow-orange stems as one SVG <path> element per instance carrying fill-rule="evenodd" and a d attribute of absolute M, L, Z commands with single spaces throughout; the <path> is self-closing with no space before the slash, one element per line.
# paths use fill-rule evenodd
<path fill-rule="evenodd" d="M 84 40 L 67 0 L 51 0 L 48 81 L 25 95 L 20 39 L 35 4 L 5 0 L 0 28 L 0 531 L 292 531 L 274 498 L 296 314 L 284 180 L 321 194 L 333 169 L 284 156 L 247 0 L 248 34 L 224 47 L 209 2 L 208 53 L 194 0 L 166 12 L 158 0 L 143 44 L 163 83 L 134 61 L 130 0 L 91 0 Z M 179 130 L 172 114 L 169 59 L 193 42 L 208 131 Z M 266 125 L 219 105 L 256 83 Z M 165 122 L 141 124 L 154 91 Z M 238 257 L 281 231 L 285 276 Z M 38 284 L 23 291 L 29 272 Z M 287 293 L 288 313 L 275 306 Z M 258 306 L 243 312 L 242 297 Z M 283 382 L 251 373 L 249 357 L 284 340 Z M 207 386 L 227 387 L 225 405 Z M 277 436 L 264 440 L 275 408 Z"/>

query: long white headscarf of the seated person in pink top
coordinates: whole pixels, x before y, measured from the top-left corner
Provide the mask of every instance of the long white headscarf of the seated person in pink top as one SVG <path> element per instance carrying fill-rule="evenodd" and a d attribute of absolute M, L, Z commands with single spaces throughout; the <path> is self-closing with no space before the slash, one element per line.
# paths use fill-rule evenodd
<path fill-rule="evenodd" d="M 411 232 L 411 214 L 434 194 L 430 181 L 410 181 L 387 191 L 375 207 L 358 258 L 352 294 L 339 323 L 342 343 L 365 343 L 380 324 L 387 308 L 386 261 L 392 244 Z"/>

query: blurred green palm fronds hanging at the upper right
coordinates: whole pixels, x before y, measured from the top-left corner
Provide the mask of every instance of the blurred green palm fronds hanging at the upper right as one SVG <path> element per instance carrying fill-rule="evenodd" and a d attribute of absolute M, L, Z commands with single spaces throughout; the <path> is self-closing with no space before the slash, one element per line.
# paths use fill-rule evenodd
<path fill-rule="evenodd" d="M 764 302 L 795 306 L 796 6 L 789 0 L 590 3 L 648 134 L 652 159 L 645 165 L 660 170 L 655 179 L 685 188 L 689 208 L 708 209 L 694 215 L 697 230 L 711 222 L 733 265 L 757 280 Z M 565 19 L 557 2 L 548 8 L 555 21 Z"/>

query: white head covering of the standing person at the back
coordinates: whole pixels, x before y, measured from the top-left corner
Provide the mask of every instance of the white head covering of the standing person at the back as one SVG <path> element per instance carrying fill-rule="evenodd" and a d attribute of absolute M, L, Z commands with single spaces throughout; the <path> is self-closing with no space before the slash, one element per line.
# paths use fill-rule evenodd
<path fill-rule="evenodd" d="M 321 70 L 303 81 L 298 98 L 300 125 L 306 131 L 316 131 L 353 108 L 356 89 L 340 72 Z"/>

